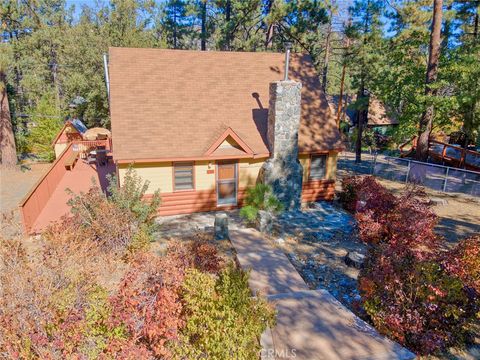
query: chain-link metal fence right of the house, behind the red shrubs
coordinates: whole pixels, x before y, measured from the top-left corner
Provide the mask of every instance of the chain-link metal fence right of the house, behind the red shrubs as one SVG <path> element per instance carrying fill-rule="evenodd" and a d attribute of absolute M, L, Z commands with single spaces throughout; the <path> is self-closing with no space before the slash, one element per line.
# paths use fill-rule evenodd
<path fill-rule="evenodd" d="M 437 191 L 480 196 L 478 172 L 382 155 L 365 160 L 357 165 L 353 158 L 339 157 L 338 167 L 387 180 L 419 184 Z"/>

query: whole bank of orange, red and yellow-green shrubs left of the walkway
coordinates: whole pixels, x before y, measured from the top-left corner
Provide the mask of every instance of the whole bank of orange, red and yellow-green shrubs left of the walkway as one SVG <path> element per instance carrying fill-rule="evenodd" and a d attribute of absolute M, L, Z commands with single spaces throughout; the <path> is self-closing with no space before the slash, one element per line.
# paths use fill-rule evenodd
<path fill-rule="evenodd" d="M 126 258 L 111 251 L 122 243 L 102 241 L 101 229 L 74 224 L 66 218 L 41 239 L 0 240 L 1 357 L 259 354 L 273 311 L 251 297 L 248 274 L 225 266 L 214 245 L 193 238 L 172 242 L 163 257 Z M 193 326 L 199 319 L 205 325 Z"/>

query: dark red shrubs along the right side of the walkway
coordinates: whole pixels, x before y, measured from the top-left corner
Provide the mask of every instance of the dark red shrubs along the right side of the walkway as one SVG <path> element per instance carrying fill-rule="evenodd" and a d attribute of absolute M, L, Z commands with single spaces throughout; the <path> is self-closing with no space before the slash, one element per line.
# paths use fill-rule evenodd
<path fill-rule="evenodd" d="M 421 354 L 466 341 L 479 305 L 465 281 L 478 271 L 478 242 L 459 245 L 442 262 L 444 240 L 424 192 L 394 196 L 372 177 L 351 183 L 359 235 L 369 246 L 359 290 L 376 328 Z"/>

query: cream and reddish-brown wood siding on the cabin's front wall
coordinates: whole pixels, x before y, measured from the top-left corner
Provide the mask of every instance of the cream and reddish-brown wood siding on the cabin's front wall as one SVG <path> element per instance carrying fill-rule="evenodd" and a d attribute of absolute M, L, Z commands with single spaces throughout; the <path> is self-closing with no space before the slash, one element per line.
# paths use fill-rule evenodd
<path fill-rule="evenodd" d="M 302 201 L 332 200 L 335 195 L 336 153 L 329 154 L 325 180 L 309 181 L 310 155 L 300 155 L 299 161 L 304 168 Z M 239 160 L 237 206 L 242 206 L 246 189 L 255 185 L 263 163 L 264 159 Z M 162 204 L 159 208 L 159 215 L 161 216 L 233 208 L 232 206 L 217 206 L 215 174 L 217 169 L 214 161 L 196 161 L 194 189 L 184 191 L 173 191 L 173 165 L 171 162 L 142 163 L 132 166 L 138 175 L 150 182 L 147 194 L 151 195 L 156 189 L 160 189 Z M 127 169 L 128 165 L 119 165 L 120 184 L 123 183 Z"/>

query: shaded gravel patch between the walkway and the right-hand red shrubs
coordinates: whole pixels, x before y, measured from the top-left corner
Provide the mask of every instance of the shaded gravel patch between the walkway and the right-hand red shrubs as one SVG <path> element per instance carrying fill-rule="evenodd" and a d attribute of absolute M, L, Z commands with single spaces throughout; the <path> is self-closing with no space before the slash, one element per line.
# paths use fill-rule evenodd
<path fill-rule="evenodd" d="M 336 203 L 318 202 L 277 218 L 272 241 L 288 256 L 311 289 L 326 289 L 353 309 L 359 300 L 359 270 L 347 266 L 350 252 L 364 254 L 353 217 Z"/>

